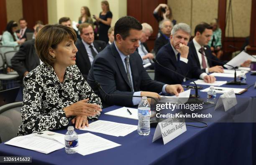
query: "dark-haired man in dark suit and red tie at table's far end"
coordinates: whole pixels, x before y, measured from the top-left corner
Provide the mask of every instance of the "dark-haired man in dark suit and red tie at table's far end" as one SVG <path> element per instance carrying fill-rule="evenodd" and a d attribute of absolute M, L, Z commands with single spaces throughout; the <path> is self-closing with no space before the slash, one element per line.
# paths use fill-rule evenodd
<path fill-rule="evenodd" d="M 200 23 L 195 27 L 195 37 L 187 45 L 189 46 L 189 57 L 203 72 L 223 72 L 223 63 L 215 55 L 212 55 L 207 45 L 212 36 L 212 26 L 207 23 Z M 200 53 L 201 51 L 202 53 Z M 206 57 L 205 57 L 206 56 Z M 215 60 L 215 61 L 214 61 Z M 251 60 L 244 62 L 241 66 L 249 66 Z"/>

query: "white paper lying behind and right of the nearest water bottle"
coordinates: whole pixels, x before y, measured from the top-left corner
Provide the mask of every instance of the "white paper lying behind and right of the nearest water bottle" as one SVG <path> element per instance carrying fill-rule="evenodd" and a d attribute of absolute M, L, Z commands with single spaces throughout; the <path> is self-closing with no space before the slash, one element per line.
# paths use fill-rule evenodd
<path fill-rule="evenodd" d="M 56 137 L 54 139 L 57 140 L 59 143 L 65 145 L 64 137 Z M 72 150 L 75 150 L 77 153 L 84 156 L 103 150 L 108 150 L 110 148 L 115 148 L 118 146 L 120 146 L 120 144 L 114 143 L 110 140 L 101 138 L 91 133 L 83 133 L 78 135 L 78 146 L 72 148 Z"/>

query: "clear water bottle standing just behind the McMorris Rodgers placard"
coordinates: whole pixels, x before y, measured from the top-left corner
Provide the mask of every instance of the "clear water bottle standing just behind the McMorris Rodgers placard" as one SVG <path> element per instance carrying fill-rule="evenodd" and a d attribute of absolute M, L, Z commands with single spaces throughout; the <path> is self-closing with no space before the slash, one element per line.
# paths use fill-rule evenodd
<path fill-rule="evenodd" d="M 149 135 L 150 133 L 150 104 L 147 97 L 143 96 L 138 105 L 138 134 Z"/>

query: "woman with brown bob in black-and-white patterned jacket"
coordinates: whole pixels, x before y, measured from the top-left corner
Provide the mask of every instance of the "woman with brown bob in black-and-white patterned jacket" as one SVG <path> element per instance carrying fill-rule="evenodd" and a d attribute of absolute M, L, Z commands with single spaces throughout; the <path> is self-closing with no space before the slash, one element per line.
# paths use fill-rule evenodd
<path fill-rule="evenodd" d="M 18 136 L 64 128 L 88 127 L 100 115 L 101 100 L 75 65 L 76 33 L 64 25 L 46 25 L 35 41 L 43 62 L 24 77 L 22 124 Z"/>

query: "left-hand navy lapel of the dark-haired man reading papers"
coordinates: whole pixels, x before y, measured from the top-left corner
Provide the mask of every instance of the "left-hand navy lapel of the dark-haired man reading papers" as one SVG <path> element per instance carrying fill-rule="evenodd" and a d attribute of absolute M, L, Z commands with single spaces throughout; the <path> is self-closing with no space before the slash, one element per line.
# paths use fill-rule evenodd
<path fill-rule="evenodd" d="M 123 79 L 125 80 L 125 82 L 127 83 L 127 85 L 129 86 L 130 83 L 129 83 L 127 73 L 125 72 L 125 68 L 124 68 L 126 66 L 123 65 L 123 61 L 122 61 L 118 51 L 115 48 L 115 44 L 110 45 L 110 47 L 111 47 L 112 54 L 115 56 L 115 61 L 118 65 L 121 75 L 122 75 Z"/>

